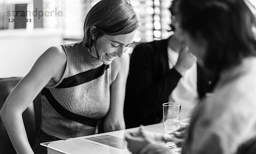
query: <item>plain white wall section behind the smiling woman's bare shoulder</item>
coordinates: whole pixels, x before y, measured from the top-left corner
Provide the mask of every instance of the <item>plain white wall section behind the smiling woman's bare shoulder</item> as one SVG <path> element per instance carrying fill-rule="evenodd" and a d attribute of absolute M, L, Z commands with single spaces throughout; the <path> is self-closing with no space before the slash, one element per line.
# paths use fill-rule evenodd
<path fill-rule="evenodd" d="M 47 29 L 0 31 L 0 78 L 25 76 L 46 49 L 60 44 L 61 33 Z"/>

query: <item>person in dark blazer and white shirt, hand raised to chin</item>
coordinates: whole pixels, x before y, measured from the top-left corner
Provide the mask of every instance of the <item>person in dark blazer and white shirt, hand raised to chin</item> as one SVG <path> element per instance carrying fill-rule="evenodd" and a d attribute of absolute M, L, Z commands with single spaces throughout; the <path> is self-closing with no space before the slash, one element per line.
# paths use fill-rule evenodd
<path fill-rule="evenodd" d="M 215 85 L 215 76 L 201 69 L 175 30 L 177 1 L 170 6 L 174 34 L 139 44 L 131 55 L 124 105 L 126 128 L 159 123 L 166 102 L 180 103 L 181 117 L 190 117 L 198 100 Z"/>

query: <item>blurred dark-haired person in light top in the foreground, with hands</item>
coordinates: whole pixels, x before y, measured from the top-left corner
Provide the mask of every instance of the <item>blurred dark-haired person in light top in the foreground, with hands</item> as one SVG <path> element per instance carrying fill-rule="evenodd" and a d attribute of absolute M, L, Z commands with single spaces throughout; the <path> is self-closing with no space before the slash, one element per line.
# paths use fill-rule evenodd
<path fill-rule="evenodd" d="M 256 18 L 247 5 L 244 0 L 179 0 L 177 30 L 183 41 L 204 69 L 220 75 L 179 140 L 183 154 L 244 154 L 240 148 L 256 138 Z M 177 143 L 175 135 L 143 129 L 137 134 L 126 135 L 133 154 L 170 154 L 154 141 Z"/>

